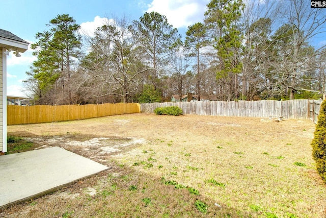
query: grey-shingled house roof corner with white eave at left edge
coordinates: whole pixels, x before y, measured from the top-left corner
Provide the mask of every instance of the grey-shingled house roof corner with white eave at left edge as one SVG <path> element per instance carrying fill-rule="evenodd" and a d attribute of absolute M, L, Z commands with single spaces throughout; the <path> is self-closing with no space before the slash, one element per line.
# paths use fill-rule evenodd
<path fill-rule="evenodd" d="M 29 43 L 12 34 L 7 30 L 0 29 L 0 47 L 5 47 L 7 50 L 15 52 L 25 52 L 28 50 Z"/>

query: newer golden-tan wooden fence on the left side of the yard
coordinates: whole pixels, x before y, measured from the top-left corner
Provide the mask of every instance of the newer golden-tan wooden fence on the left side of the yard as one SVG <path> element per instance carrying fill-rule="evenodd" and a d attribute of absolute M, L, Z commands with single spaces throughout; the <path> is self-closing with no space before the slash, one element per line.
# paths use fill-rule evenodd
<path fill-rule="evenodd" d="M 87 119 L 126 113 L 140 113 L 138 103 L 101 105 L 36 105 L 7 106 L 7 124 L 35 124 L 74 119 Z"/>

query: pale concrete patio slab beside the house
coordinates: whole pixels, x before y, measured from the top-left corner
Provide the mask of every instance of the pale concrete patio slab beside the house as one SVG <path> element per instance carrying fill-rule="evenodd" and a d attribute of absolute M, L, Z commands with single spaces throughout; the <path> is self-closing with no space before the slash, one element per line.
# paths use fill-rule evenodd
<path fill-rule="evenodd" d="M 0 210 L 45 195 L 108 167 L 52 147 L 0 156 Z"/>

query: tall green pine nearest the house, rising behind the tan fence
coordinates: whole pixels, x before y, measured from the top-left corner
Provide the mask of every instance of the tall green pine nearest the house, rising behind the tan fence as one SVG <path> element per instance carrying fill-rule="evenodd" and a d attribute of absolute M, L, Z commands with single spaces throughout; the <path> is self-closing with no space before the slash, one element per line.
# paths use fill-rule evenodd
<path fill-rule="evenodd" d="M 74 64 L 73 58 L 80 55 L 82 46 L 82 38 L 78 33 L 80 26 L 68 14 L 58 15 L 51 19 L 47 26 L 50 30 L 37 33 L 38 41 L 31 45 L 37 60 L 32 63 L 31 71 L 28 72 L 29 81 L 35 81 L 39 91 L 44 94 L 51 91 L 56 82 L 60 83 L 62 95 L 68 97 L 63 98 L 67 100 L 60 104 L 72 104 L 71 65 Z M 44 103 L 42 99 L 38 102 Z"/>

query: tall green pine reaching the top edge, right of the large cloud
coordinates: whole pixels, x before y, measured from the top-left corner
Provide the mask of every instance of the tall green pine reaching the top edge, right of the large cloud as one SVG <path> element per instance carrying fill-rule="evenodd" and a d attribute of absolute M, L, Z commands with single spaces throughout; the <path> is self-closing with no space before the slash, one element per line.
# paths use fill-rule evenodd
<path fill-rule="evenodd" d="M 205 23 L 214 38 L 213 47 L 220 60 L 216 79 L 223 79 L 228 84 L 228 101 L 237 98 L 237 75 L 242 70 L 243 34 L 239 21 L 243 7 L 242 0 L 211 0 L 205 12 Z"/>

